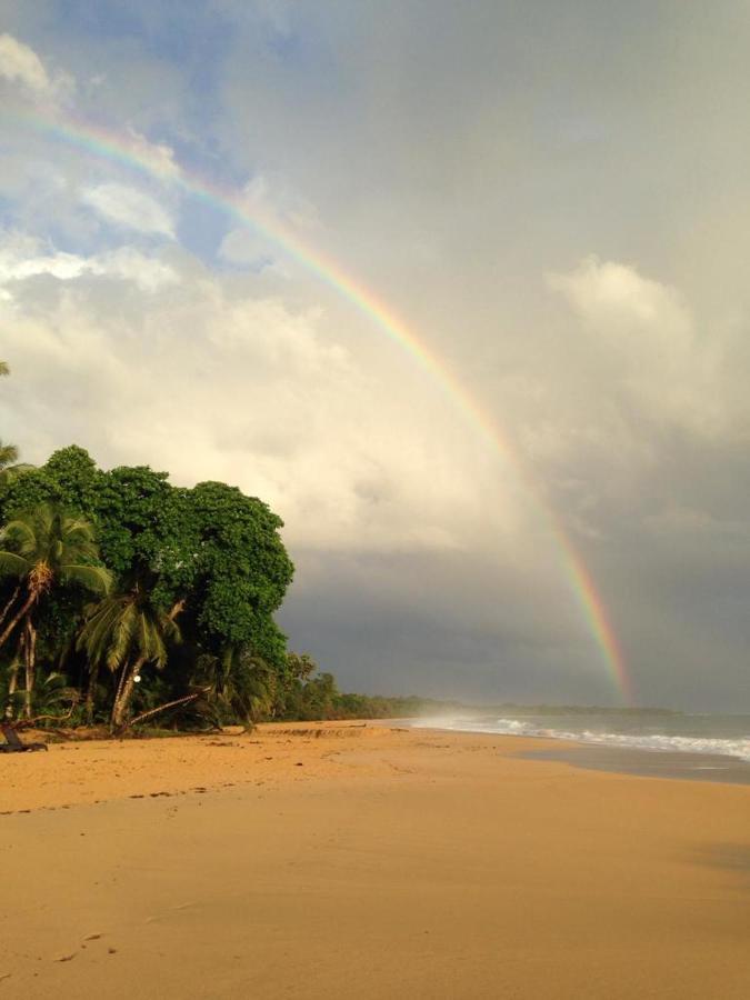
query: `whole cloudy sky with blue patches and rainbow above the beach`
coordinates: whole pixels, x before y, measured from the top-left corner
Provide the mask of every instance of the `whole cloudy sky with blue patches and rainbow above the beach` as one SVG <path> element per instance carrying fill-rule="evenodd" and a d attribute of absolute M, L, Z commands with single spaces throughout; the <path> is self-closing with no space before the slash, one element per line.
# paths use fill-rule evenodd
<path fill-rule="evenodd" d="M 750 711 L 749 43 L 0 0 L 0 436 L 266 500 L 346 690 Z"/>

